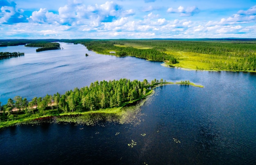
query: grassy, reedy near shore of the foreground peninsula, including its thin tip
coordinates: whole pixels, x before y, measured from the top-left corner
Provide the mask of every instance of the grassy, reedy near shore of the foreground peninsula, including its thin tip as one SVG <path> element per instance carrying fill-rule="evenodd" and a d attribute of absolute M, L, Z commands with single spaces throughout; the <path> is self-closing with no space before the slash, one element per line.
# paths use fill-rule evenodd
<path fill-rule="evenodd" d="M 182 84 L 182 82 L 165 82 L 155 83 L 150 85 L 151 90 L 148 90 L 146 95 L 124 103 L 120 107 L 97 109 L 93 111 L 74 111 L 63 113 L 57 109 L 49 109 L 45 111 L 45 115 L 42 112 L 32 114 L 21 114 L 21 112 L 13 113 L 13 120 L 1 121 L 0 130 L 6 127 L 22 124 L 36 125 L 40 123 L 77 123 L 85 125 L 95 125 L 101 121 L 115 121 L 117 123 L 137 123 L 137 116 L 140 113 L 139 108 L 145 103 L 145 101 L 153 96 L 156 87 L 163 85 L 191 85 L 195 87 L 203 87 L 202 85 L 196 85 L 194 83 Z"/>

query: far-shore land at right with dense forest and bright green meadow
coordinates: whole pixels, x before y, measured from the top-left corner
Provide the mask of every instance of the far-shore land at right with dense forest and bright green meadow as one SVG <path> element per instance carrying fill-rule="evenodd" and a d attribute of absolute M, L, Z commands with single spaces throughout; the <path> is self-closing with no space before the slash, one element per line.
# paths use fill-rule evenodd
<path fill-rule="evenodd" d="M 255 41 L 97 40 L 81 44 L 100 54 L 116 51 L 173 67 L 200 70 L 256 71 Z"/>

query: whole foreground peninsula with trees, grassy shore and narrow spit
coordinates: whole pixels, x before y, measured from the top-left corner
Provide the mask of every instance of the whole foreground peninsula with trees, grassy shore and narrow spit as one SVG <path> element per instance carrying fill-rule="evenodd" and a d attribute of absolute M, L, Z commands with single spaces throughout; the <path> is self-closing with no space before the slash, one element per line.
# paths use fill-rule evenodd
<path fill-rule="evenodd" d="M 106 117 L 119 120 L 124 115 L 123 108 L 136 105 L 153 92 L 153 87 L 167 84 L 203 87 L 189 81 L 168 83 L 163 79 L 154 79 L 149 83 L 146 79 L 141 82 L 123 78 L 96 81 L 89 87 L 75 88 L 62 95 L 56 93 L 43 98 L 34 97 L 31 101 L 15 96 L 9 98 L 6 105 L 0 103 L 0 129 L 19 123 L 36 123 L 41 119 L 85 124 L 88 121 L 106 120 Z M 98 114 L 97 118 L 93 114 Z"/>

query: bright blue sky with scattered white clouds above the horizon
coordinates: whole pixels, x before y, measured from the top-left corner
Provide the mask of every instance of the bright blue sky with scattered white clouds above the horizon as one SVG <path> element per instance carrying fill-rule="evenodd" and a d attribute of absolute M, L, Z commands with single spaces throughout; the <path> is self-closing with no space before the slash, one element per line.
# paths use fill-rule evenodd
<path fill-rule="evenodd" d="M 256 38 L 256 0 L 0 0 L 0 39 Z"/>

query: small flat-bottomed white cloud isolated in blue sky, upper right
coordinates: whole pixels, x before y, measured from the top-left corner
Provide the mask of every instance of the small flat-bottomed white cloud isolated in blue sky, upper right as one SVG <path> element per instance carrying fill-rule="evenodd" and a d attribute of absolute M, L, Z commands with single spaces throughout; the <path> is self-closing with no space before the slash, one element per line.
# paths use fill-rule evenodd
<path fill-rule="evenodd" d="M 172 7 L 167 9 L 168 13 L 180 13 L 180 16 L 193 16 L 196 13 L 199 13 L 198 7 L 187 7 L 186 9 L 183 6 L 174 9 Z"/>

